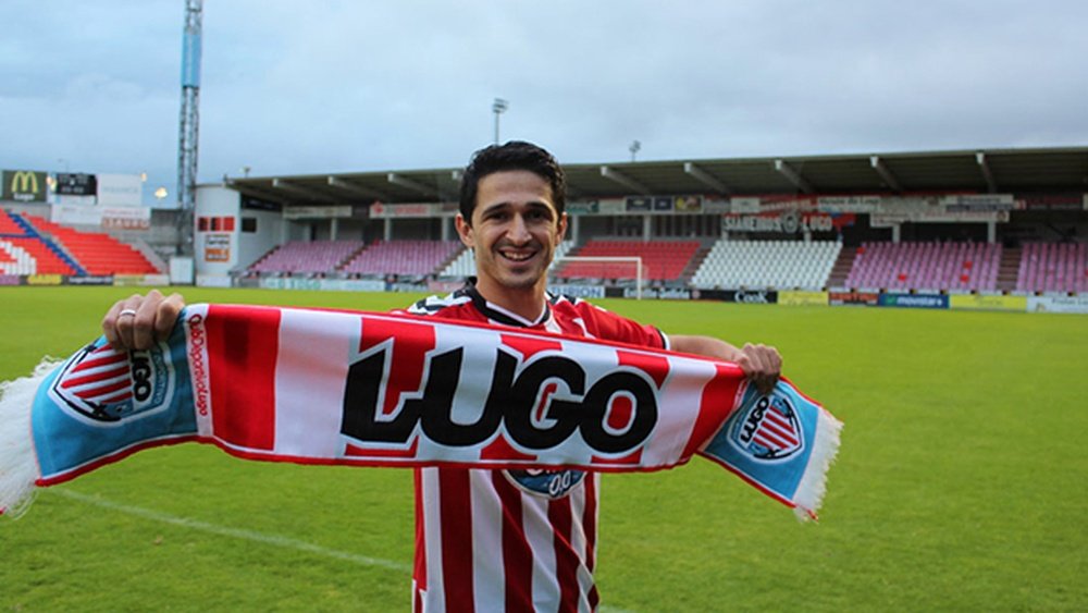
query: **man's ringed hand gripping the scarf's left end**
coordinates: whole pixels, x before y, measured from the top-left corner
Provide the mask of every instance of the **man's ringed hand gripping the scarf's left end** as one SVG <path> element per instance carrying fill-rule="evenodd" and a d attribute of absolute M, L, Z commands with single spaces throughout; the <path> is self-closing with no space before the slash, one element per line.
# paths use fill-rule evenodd
<path fill-rule="evenodd" d="M 164 297 L 158 290 L 118 301 L 102 318 L 102 333 L 119 351 L 148 350 L 164 341 L 185 306 L 181 294 Z"/>

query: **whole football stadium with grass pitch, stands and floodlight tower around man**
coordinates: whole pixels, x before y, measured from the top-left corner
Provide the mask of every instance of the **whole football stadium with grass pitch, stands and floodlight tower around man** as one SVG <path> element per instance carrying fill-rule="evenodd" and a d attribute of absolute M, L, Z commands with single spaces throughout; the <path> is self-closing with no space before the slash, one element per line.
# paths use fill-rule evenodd
<path fill-rule="evenodd" d="M 471 282 L 461 167 L 197 183 L 186 65 L 177 203 L 2 169 L 4 385 L 152 287 L 373 314 Z M 818 523 L 705 458 L 604 475 L 599 611 L 1088 608 L 1088 147 L 964 146 L 564 165 L 551 291 L 774 345 L 844 422 Z M 403 468 L 140 450 L 0 515 L 0 608 L 408 611 L 417 511 Z"/>

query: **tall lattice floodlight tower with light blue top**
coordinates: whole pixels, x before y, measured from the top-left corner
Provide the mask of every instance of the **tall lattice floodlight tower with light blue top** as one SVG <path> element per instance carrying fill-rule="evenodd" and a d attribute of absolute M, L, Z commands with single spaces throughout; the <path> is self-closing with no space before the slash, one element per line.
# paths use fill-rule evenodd
<path fill-rule="evenodd" d="M 182 117 L 177 136 L 178 255 L 193 255 L 193 210 L 196 208 L 197 134 L 200 127 L 200 29 L 203 0 L 185 0 L 182 33 Z"/>

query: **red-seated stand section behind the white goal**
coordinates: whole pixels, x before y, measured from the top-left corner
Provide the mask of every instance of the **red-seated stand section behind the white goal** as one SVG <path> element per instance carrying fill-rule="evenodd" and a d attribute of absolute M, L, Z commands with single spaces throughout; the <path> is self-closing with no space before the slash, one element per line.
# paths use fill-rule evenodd
<path fill-rule="evenodd" d="M 684 268 L 698 252 L 698 241 L 590 240 L 571 256 L 641 257 L 643 279 L 679 281 Z M 634 279 L 633 266 L 608 262 L 568 261 L 558 269 L 559 279 Z"/>

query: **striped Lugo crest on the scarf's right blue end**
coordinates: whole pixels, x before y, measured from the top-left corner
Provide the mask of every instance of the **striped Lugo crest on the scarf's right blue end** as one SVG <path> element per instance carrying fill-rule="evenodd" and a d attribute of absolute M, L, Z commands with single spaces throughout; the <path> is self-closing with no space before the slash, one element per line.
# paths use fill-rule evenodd
<path fill-rule="evenodd" d="M 786 459 L 804 449 L 798 412 L 781 395 L 762 396 L 730 426 L 729 442 L 764 461 Z"/>

